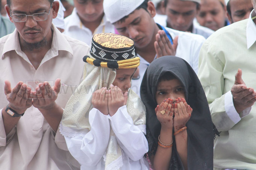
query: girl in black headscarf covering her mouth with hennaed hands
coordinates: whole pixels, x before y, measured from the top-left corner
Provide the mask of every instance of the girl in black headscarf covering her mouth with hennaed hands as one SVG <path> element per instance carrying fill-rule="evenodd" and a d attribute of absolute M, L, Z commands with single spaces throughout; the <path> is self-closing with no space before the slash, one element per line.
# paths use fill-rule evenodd
<path fill-rule="evenodd" d="M 148 156 L 155 170 L 213 169 L 208 102 L 185 60 L 165 56 L 153 61 L 142 80 L 141 99 L 147 110 Z"/>

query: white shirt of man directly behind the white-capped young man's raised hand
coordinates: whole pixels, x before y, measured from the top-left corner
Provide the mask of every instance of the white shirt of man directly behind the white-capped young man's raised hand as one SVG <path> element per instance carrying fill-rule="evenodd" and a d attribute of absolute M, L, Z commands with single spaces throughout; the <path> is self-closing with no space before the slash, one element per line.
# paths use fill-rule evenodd
<path fill-rule="evenodd" d="M 167 27 L 167 22 L 166 22 L 167 15 L 156 15 L 154 17 L 154 20 L 156 23 L 162 25 L 163 27 Z M 214 33 L 214 31 L 211 30 L 210 28 L 199 25 L 197 22 L 193 22 L 192 33 L 201 35 L 205 39 L 207 39 L 212 33 Z"/>

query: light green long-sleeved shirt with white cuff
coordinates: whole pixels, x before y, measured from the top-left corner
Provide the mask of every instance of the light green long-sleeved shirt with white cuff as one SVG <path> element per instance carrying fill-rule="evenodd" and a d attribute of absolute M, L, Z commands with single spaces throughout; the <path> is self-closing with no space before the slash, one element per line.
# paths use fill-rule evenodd
<path fill-rule="evenodd" d="M 250 16 L 216 31 L 200 51 L 198 77 L 212 121 L 221 131 L 214 144 L 216 169 L 256 169 L 256 104 L 250 114 L 244 113 L 250 108 L 238 114 L 230 95 L 239 68 L 247 87 L 256 89 L 255 41 L 256 25 Z"/>

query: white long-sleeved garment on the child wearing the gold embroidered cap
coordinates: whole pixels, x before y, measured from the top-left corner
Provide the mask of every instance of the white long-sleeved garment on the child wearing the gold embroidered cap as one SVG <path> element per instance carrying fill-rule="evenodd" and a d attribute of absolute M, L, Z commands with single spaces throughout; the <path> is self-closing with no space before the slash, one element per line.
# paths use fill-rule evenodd
<path fill-rule="evenodd" d="M 104 156 L 109 143 L 110 127 L 122 150 L 123 166 L 120 170 L 149 169 L 144 157 L 148 152 L 147 139 L 140 127 L 133 125 L 126 106 L 120 107 L 113 116 L 103 115 L 93 108 L 89 112 L 89 123 L 91 130 L 85 136 L 65 136 L 68 150 L 81 164 L 81 170 L 105 170 Z"/>

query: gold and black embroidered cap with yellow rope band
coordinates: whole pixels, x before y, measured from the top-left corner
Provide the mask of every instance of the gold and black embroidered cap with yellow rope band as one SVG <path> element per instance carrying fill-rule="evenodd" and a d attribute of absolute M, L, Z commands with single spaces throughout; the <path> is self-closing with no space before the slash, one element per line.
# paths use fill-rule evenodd
<path fill-rule="evenodd" d="M 83 61 L 111 69 L 130 69 L 139 66 L 132 39 L 113 33 L 100 33 L 92 37 L 90 54 Z M 95 60 L 94 60 L 95 58 Z"/>

